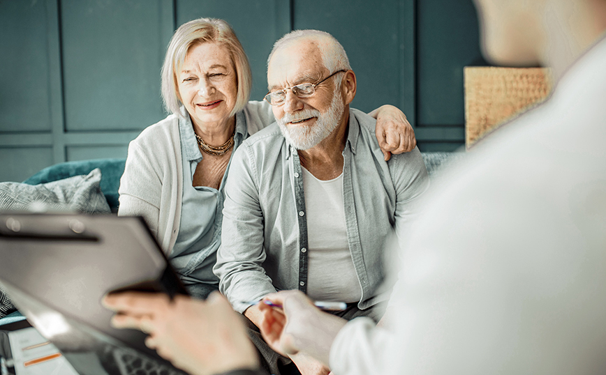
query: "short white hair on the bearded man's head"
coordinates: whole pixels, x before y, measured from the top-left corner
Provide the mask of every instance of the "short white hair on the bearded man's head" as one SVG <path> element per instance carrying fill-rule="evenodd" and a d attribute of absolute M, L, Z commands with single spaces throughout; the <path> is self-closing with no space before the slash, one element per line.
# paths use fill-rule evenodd
<path fill-rule="evenodd" d="M 269 68 L 269 61 L 272 60 L 272 56 L 274 56 L 274 53 L 276 53 L 278 49 L 286 47 L 287 45 L 295 43 L 299 40 L 313 40 L 318 44 L 318 49 L 320 49 L 320 54 L 322 54 L 324 66 L 330 72 L 336 72 L 337 70 L 341 69 L 351 69 L 345 49 L 341 43 L 339 43 L 339 40 L 330 35 L 330 33 L 319 30 L 290 31 L 290 33 L 280 38 L 278 41 L 276 41 L 276 43 L 274 43 L 274 48 L 272 48 L 272 52 L 269 53 L 269 57 L 267 58 L 267 67 Z M 337 82 L 341 82 L 341 78 L 342 77 L 339 77 Z"/>

